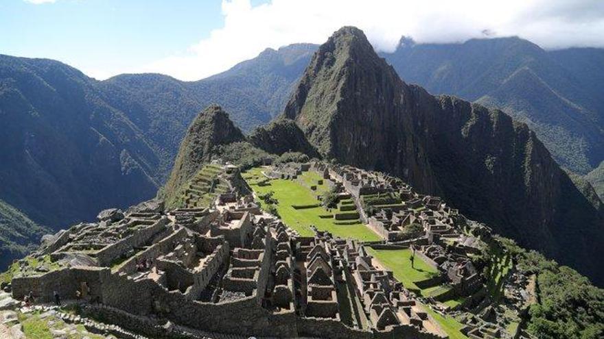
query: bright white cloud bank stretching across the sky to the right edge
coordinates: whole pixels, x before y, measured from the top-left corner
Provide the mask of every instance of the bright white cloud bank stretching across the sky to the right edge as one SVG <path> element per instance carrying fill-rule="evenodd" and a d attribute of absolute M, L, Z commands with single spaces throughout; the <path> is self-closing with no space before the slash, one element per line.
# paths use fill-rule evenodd
<path fill-rule="evenodd" d="M 37 0 L 40 1 L 40 0 Z M 544 48 L 604 47 L 601 0 L 249 0 L 222 1 L 224 27 L 186 51 L 138 71 L 178 79 L 201 79 L 254 58 L 266 47 L 322 43 L 343 25 L 363 29 L 380 51 L 395 49 L 401 36 L 417 42 L 461 42 L 518 35 Z"/>

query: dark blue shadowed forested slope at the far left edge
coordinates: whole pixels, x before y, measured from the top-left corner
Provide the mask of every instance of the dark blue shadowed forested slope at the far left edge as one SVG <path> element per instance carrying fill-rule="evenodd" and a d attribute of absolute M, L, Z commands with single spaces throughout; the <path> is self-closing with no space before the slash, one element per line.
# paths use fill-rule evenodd
<path fill-rule="evenodd" d="M 148 199 L 158 159 L 86 77 L 52 60 L 0 56 L 0 199 L 59 227 Z"/>

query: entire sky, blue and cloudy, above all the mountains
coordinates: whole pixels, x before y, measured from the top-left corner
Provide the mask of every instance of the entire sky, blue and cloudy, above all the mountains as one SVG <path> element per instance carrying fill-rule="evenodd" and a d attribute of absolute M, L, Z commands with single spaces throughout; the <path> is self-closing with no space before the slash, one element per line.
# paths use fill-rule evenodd
<path fill-rule="evenodd" d="M 36 4 L 37 3 L 37 4 Z M 322 43 L 342 25 L 373 47 L 518 35 L 548 49 L 604 47 L 603 0 L 0 0 L 0 53 L 105 79 L 201 79 L 267 47 Z"/>

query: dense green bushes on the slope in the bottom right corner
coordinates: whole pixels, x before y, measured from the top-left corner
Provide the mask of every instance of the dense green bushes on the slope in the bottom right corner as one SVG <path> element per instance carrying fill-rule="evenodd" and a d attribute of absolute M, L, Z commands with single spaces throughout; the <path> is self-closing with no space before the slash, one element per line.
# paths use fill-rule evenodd
<path fill-rule="evenodd" d="M 524 274 L 537 275 L 537 303 L 529 309 L 528 331 L 544 339 L 604 336 L 604 290 L 567 266 L 559 266 L 513 240 L 500 238 Z"/>

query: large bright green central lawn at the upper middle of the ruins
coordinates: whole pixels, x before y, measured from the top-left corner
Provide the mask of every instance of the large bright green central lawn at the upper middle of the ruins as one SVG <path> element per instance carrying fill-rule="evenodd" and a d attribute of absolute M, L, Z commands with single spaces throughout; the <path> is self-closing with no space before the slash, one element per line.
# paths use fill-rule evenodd
<path fill-rule="evenodd" d="M 334 236 L 341 238 L 353 238 L 357 240 L 380 240 L 380 237 L 367 228 L 362 223 L 356 221 L 351 225 L 338 225 L 338 221 L 334 218 L 326 218 L 329 213 L 322 206 L 314 208 L 292 208 L 292 205 L 316 205 L 321 203 L 316 199 L 316 192 L 310 190 L 297 181 L 286 179 L 273 179 L 266 184 L 259 185 L 259 182 L 264 181 L 261 168 L 253 168 L 244 173 L 251 188 L 256 194 L 266 194 L 270 191 L 274 192 L 273 197 L 279 201 L 277 212 L 281 216 L 283 223 L 286 223 L 292 229 L 299 231 L 301 236 L 313 236 L 314 233 L 310 229 L 310 225 L 316 226 L 323 231 L 329 231 Z M 318 173 L 316 173 L 318 175 Z M 318 176 L 321 179 L 321 176 Z M 307 180 L 314 180 L 312 175 L 306 177 Z M 304 180 L 304 179 L 303 179 Z M 313 181 L 314 182 L 314 181 Z M 325 185 L 325 184 L 324 184 Z M 317 186 L 318 188 L 318 186 Z M 324 218 L 321 218 L 324 216 Z M 341 222 L 340 222 L 341 223 Z"/>

